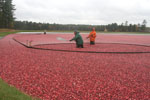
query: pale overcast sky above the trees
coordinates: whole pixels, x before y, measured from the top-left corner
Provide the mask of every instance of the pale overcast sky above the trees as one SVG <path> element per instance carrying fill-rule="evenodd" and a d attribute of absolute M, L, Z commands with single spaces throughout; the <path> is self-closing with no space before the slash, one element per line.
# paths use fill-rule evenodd
<path fill-rule="evenodd" d="M 13 0 L 17 20 L 106 25 L 128 21 L 150 26 L 150 0 Z"/>

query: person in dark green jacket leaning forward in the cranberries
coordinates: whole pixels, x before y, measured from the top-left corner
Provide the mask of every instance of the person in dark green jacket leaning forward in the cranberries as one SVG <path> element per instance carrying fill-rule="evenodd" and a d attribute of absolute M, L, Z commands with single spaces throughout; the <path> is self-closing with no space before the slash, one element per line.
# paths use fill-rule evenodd
<path fill-rule="evenodd" d="M 83 48 L 83 39 L 82 39 L 80 33 L 78 31 L 74 31 L 74 35 L 75 35 L 75 37 L 72 38 L 69 41 L 73 41 L 74 40 L 76 42 L 76 47 L 77 48 Z"/>

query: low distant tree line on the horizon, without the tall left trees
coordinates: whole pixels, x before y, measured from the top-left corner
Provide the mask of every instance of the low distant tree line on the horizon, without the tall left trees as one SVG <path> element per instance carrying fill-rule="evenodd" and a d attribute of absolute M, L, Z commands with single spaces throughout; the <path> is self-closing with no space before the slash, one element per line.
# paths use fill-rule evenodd
<path fill-rule="evenodd" d="M 118 25 L 112 23 L 108 25 L 75 25 L 75 24 L 49 24 L 49 23 L 36 23 L 29 21 L 15 21 L 14 28 L 18 30 L 80 30 L 90 31 L 92 27 L 95 27 L 97 31 L 113 31 L 113 32 L 145 32 L 146 20 L 143 20 L 141 24 L 129 24 L 128 21 Z"/>

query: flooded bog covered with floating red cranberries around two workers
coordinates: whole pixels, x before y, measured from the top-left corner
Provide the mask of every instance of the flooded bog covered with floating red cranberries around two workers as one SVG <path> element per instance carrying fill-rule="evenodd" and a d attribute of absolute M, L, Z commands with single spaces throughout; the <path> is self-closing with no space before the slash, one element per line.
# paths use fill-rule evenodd
<path fill-rule="evenodd" d="M 42 100 L 149 100 L 150 35 L 11 34 L 0 40 L 0 77 Z"/>

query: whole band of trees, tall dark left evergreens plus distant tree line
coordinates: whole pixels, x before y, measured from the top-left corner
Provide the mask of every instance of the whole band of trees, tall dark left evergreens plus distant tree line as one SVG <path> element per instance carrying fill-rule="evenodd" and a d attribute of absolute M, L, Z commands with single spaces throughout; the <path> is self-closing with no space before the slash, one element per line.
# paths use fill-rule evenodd
<path fill-rule="evenodd" d="M 0 0 L 0 28 L 13 28 L 17 30 L 80 30 L 90 31 L 95 27 L 97 31 L 118 31 L 118 32 L 145 32 L 147 21 L 139 24 L 112 23 L 108 25 L 76 25 L 76 24 L 49 24 L 31 21 L 16 21 L 14 18 L 15 6 L 12 0 Z"/>

